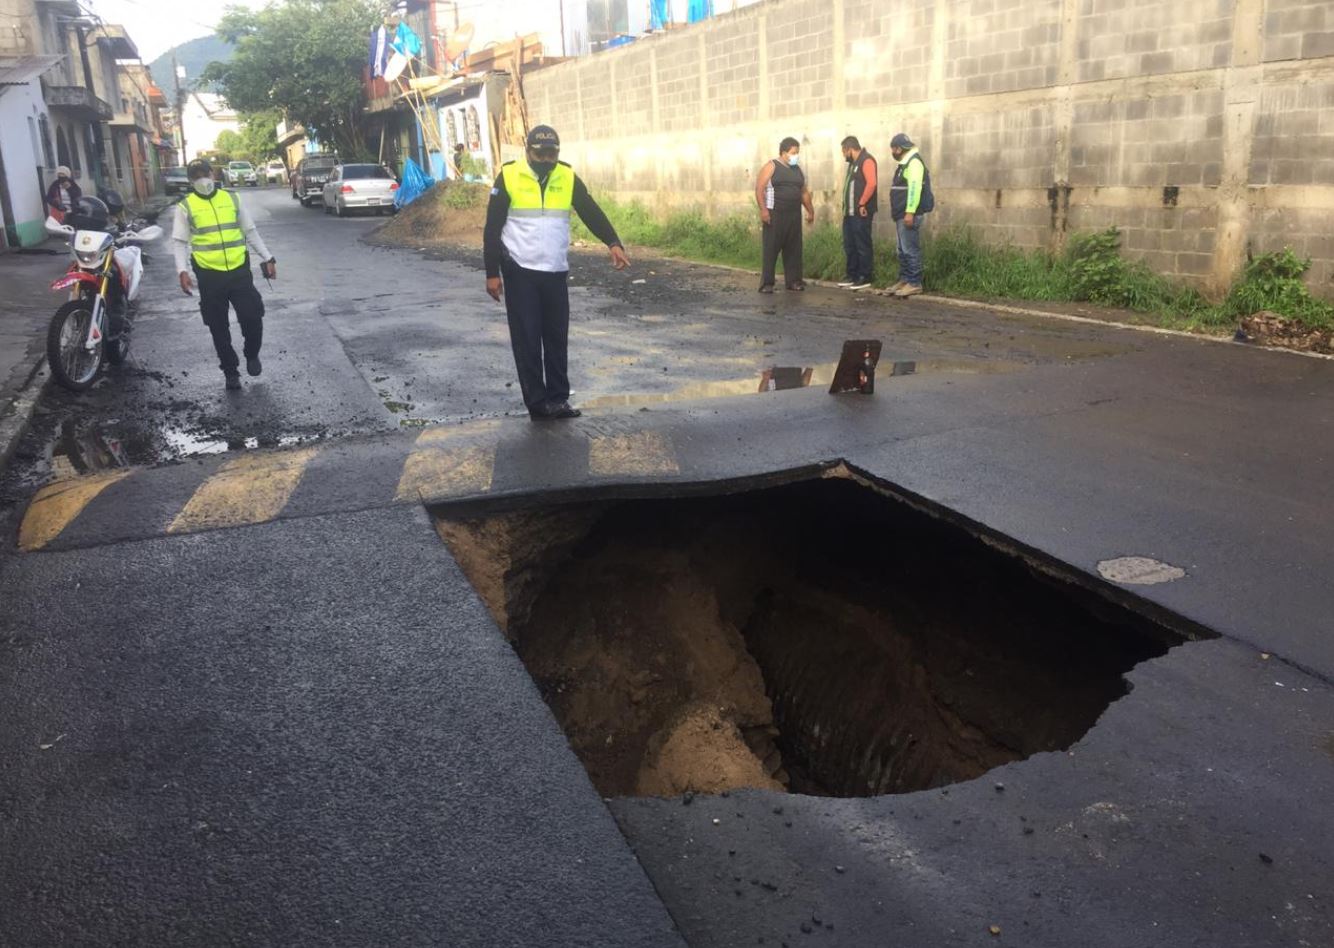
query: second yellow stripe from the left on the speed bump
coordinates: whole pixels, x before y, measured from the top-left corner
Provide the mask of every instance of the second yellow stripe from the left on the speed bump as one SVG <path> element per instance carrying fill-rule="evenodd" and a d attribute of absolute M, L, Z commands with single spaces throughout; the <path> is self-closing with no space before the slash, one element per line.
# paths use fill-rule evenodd
<path fill-rule="evenodd" d="M 316 448 L 245 455 L 227 461 L 195 491 L 168 533 L 241 527 L 272 520 L 287 505 Z"/>

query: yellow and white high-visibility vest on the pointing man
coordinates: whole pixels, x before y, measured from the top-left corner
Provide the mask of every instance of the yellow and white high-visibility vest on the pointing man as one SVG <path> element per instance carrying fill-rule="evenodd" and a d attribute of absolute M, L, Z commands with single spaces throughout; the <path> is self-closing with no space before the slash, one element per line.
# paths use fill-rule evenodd
<path fill-rule="evenodd" d="M 500 169 L 500 180 L 510 195 L 510 213 L 500 232 L 510 259 L 524 269 L 568 271 L 574 168 L 558 161 L 543 189 L 527 161 L 507 161 Z"/>

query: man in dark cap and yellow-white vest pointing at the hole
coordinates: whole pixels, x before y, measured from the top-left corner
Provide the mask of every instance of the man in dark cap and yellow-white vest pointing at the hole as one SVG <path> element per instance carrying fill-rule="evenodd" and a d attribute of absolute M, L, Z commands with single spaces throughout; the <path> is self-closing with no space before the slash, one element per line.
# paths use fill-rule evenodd
<path fill-rule="evenodd" d="M 526 161 L 507 161 L 491 189 L 483 255 L 487 292 L 502 297 L 523 403 L 534 420 L 578 417 L 570 407 L 570 212 L 611 248 L 616 269 L 630 265 L 616 231 L 574 169 L 558 161 L 560 139 L 538 125 Z"/>

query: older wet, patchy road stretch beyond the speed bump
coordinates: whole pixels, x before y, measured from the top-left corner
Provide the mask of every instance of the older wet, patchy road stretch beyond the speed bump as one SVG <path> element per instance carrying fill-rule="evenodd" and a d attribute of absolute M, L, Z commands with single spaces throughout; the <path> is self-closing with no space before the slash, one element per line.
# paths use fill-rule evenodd
<path fill-rule="evenodd" d="M 223 389 L 197 299 L 149 251 L 128 364 L 83 395 L 51 388 L 5 479 L 7 503 L 52 475 L 157 464 L 228 448 L 482 417 L 522 416 L 504 308 L 484 292 L 480 252 L 422 255 L 362 241 L 383 217 L 335 219 L 285 189 L 243 191 L 279 280 L 264 295 L 264 375 Z M 164 217 L 165 219 L 165 217 Z M 450 259 L 444 259 L 448 256 Z M 827 379 L 844 339 L 883 339 L 884 363 L 916 373 L 992 373 L 1099 359 L 1143 340 L 1041 319 L 814 291 L 760 296 L 750 276 L 639 260 L 614 272 L 574 255 L 571 380 L 576 404 L 662 407 L 756 392 L 774 365 Z M 240 333 L 232 335 L 237 352 Z M 902 369 L 900 371 L 907 371 Z M 19 481 L 19 489 L 13 483 Z"/>

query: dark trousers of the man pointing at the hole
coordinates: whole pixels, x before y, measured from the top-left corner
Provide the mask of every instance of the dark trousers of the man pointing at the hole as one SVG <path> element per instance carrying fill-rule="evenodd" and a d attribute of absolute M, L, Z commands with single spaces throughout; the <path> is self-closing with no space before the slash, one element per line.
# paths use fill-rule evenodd
<path fill-rule="evenodd" d="M 570 275 L 500 264 L 519 388 L 528 411 L 570 400 Z"/>

